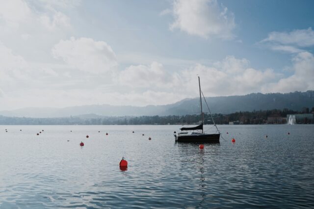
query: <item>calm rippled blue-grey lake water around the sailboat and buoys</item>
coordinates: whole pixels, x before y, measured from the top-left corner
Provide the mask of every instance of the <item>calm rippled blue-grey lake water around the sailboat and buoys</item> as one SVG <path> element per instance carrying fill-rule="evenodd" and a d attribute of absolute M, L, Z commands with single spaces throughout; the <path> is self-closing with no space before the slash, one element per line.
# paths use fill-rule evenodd
<path fill-rule="evenodd" d="M 204 150 L 178 128 L 0 126 L 0 208 L 314 207 L 313 125 L 219 126 Z"/>

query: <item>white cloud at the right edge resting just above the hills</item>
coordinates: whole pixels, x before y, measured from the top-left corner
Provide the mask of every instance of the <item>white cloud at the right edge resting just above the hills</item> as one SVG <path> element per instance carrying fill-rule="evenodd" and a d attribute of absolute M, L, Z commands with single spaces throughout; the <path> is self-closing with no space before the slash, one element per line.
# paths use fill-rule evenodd
<path fill-rule="evenodd" d="M 263 92 L 292 92 L 314 89 L 314 56 L 310 52 L 300 52 L 292 58 L 294 74 L 269 83 L 262 88 Z"/>

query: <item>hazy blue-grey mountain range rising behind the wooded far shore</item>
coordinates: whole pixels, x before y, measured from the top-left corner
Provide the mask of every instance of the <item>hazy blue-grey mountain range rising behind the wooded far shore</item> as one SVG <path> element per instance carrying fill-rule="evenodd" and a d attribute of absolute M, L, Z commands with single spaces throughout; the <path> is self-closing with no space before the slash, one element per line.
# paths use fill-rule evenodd
<path fill-rule="evenodd" d="M 207 97 L 212 113 L 229 114 L 237 111 L 292 109 L 299 111 L 303 107 L 314 107 L 314 91 L 291 93 L 253 93 L 244 96 Z M 203 103 L 203 111 L 208 108 Z M 139 106 L 82 105 L 64 108 L 28 107 L 12 111 L 0 111 L 0 115 L 9 117 L 70 117 L 97 118 L 101 116 L 152 116 L 199 114 L 199 98 L 184 99 L 174 104 Z"/>

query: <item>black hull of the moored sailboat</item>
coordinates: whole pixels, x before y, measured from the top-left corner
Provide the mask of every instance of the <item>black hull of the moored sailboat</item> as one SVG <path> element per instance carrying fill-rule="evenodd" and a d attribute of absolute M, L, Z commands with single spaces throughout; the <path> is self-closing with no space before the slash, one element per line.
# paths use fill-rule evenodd
<path fill-rule="evenodd" d="M 178 142 L 198 142 L 198 143 L 219 143 L 220 133 L 200 134 L 200 135 L 179 135 L 176 136 Z"/>

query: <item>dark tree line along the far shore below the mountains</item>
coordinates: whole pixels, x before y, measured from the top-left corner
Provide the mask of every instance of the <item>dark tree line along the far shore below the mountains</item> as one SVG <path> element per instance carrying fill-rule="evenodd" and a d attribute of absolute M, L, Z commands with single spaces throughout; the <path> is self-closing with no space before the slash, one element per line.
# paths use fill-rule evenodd
<path fill-rule="evenodd" d="M 238 121 L 241 124 L 266 124 L 268 117 L 287 117 L 287 114 L 314 113 L 314 107 L 311 111 L 308 107 L 301 111 L 290 109 L 273 110 L 254 110 L 239 111 L 231 114 L 209 114 L 203 115 L 204 124 L 229 124 L 229 122 Z M 213 120 L 212 120 L 213 119 Z M 199 124 L 200 115 L 168 115 L 168 116 L 122 116 L 122 117 L 104 117 L 99 118 L 26 118 L 26 117 L 4 117 L 0 116 L 0 125 L 178 125 L 178 124 Z"/>

